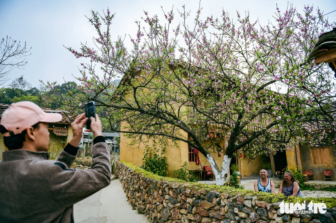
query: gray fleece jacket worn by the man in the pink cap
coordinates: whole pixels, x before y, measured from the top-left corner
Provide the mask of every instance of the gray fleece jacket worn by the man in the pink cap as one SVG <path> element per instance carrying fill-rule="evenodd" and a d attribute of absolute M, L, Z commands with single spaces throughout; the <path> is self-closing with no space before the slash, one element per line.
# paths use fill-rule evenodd
<path fill-rule="evenodd" d="M 73 205 L 111 182 L 109 148 L 101 138 L 97 143 L 97 138 L 93 164 L 87 170 L 69 168 L 76 156 L 66 152 L 67 147 L 57 160 L 48 160 L 46 152 L 4 151 L 0 222 L 74 222 Z"/>

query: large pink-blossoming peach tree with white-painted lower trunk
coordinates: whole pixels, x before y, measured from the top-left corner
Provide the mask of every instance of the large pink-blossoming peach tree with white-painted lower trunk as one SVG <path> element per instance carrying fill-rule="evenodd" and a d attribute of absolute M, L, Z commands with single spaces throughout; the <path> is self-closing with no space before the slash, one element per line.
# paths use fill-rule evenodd
<path fill-rule="evenodd" d="M 335 25 L 320 10 L 277 8 L 266 25 L 249 14 L 233 21 L 225 11 L 202 20 L 201 10 L 190 25 L 184 7 L 173 25 L 174 11 L 163 13 L 159 20 L 144 12 L 127 48 L 112 38 L 115 15 L 92 11 L 96 47 L 68 48 L 90 62 L 81 64 L 80 93 L 68 91 L 60 103 L 76 109 L 94 100 L 111 129 L 123 123 L 134 144 L 187 143 L 208 159 L 218 185 L 237 151 L 253 157 L 335 143 L 335 78 L 328 65 L 308 60 Z M 219 166 L 211 152 L 223 150 Z"/>

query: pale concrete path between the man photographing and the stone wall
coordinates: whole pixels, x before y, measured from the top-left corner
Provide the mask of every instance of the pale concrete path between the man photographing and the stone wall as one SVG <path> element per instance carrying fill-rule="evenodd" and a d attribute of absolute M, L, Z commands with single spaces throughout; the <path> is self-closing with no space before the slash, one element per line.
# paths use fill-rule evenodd
<path fill-rule="evenodd" d="M 150 223 L 145 215 L 132 210 L 119 180 L 74 205 L 76 223 Z"/>

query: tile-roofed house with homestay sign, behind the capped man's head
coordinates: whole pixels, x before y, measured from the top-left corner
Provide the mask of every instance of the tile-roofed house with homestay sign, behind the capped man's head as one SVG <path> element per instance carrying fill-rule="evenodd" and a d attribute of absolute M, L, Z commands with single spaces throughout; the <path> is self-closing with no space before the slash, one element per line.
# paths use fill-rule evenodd
<path fill-rule="evenodd" d="M 8 104 L 0 104 L 0 122 L 3 112 L 9 107 Z M 60 113 L 62 115 L 62 120 L 57 123 L 49 123 L 49 158 L 56 159 L 59 152 L 68 144 L 72 139 L 73 132 L 71 129 L 71 123 L 76 119 L 76 116 L 70 113 L 66 113 L 64 110 L 60 109 L 50 109 L 42 108 L 45 112 L 50 113 Z M 3 143 L 3 137 L 0 134 L 0 159 L 2 158 L 2 151 L 6 150 L 5 144 Z"/>

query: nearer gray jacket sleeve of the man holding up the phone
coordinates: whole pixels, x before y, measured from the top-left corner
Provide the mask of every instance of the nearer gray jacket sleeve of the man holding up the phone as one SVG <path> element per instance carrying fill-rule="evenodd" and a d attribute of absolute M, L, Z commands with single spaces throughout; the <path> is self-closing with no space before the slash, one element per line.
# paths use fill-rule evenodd
<path fill-rule="evenodd" d="M 50 193 L 58 205 L 69 207 L 110 184 L 111 162 L 108 145 L 104 142 L 96 143 L 92 153 L 91 169 L 69 169 L 69 162 L 64 157 L 60 157 L 61 160 L 56 160 L 50 166 Z"/>

